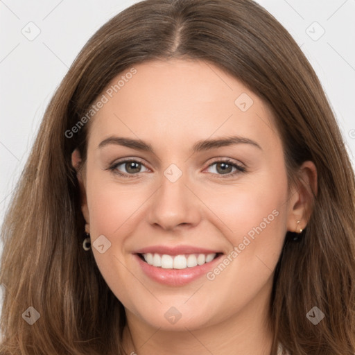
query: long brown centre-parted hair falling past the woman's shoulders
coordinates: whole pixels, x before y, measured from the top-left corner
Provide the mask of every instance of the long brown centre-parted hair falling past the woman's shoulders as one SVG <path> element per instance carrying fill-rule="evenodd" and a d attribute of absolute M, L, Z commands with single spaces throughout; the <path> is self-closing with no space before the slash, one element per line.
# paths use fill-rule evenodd
<path fill-rule="evenodd" d="M 215 64 L 270 106 L 290 183 L 302 162 L 318 169 L 303 238 L 291 243 L 285 236 L 275 270 L 272 354 L 278 343 L 291 354 L 354 354 L 354 171 L 308 60 L 250 0 L 141 1 L 84 46 L 46 109 L 3 223 L 1 354 L 123 354 L 123 305 L 82 247 L 71 153 L 80 148 L 85 161 L 87 125 L 78 122 L 115 76 L 168 58 Z M 23 316 L 30 306 L 40 313 L 33 325 Z M 317 325 L 306 317 L 313 306 L 324 313 Z"/>

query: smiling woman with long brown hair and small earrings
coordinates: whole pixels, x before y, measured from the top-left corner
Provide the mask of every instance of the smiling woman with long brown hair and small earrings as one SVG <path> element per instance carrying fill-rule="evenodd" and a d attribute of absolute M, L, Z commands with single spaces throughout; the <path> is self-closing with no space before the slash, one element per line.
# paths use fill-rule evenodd
<path fill-rule="evenodd" d="M 250 0 L 148 0 L 87 42 L 3 225 L 1 354 L 354 354 L 354 172 Z"/>

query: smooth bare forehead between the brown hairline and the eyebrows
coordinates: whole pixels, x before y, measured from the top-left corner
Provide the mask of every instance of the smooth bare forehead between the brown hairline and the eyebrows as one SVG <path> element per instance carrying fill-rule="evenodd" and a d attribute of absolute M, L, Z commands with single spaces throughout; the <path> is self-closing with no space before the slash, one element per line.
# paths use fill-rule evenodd
<path fill-rule="evenodd" d="M 214 64 L 153 60 L 133 68 L 119 73 L 99 96 L 105 103 L 90 122 L 89 140 L 117 134 L 172 146 L 237 134 L 280 144 L 268 105 Z"/>

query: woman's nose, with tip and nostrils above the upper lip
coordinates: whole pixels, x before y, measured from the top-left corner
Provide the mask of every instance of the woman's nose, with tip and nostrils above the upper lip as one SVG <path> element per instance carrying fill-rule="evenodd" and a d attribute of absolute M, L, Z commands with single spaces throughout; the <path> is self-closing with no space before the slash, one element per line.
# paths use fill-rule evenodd
<path fill-rule="evenodd" d="M 162 174 L 162 183 L 150 199 L 148 221 L 150 225 L 163 230 L 176 230 L 184 226 L 194 227 L 201 220 L 201 202 L 197 193 L 182 174 L 178 180 L 171 182 Z"/>

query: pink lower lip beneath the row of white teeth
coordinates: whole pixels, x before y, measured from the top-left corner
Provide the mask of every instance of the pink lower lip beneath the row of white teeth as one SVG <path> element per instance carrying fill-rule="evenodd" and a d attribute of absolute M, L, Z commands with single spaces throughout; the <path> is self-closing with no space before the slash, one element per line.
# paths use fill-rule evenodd
<path fill-rule="evenodd" d="M 149 265 L 143 261 L 138 254 L 134 254 L 134 257 L 137 259 L 144 273 L 154 281 L 168 286 L 183 286 L 198 279 L 198 277 L 201 277 L 202 275 L 206 275 L 207 272 L 216 266 L 216 263 L 218 263 L 220 258 L 223 257 L 223 254 L 220 254 L 209 263 L 184 269 L 157 268 L 156 266 Z"/>

